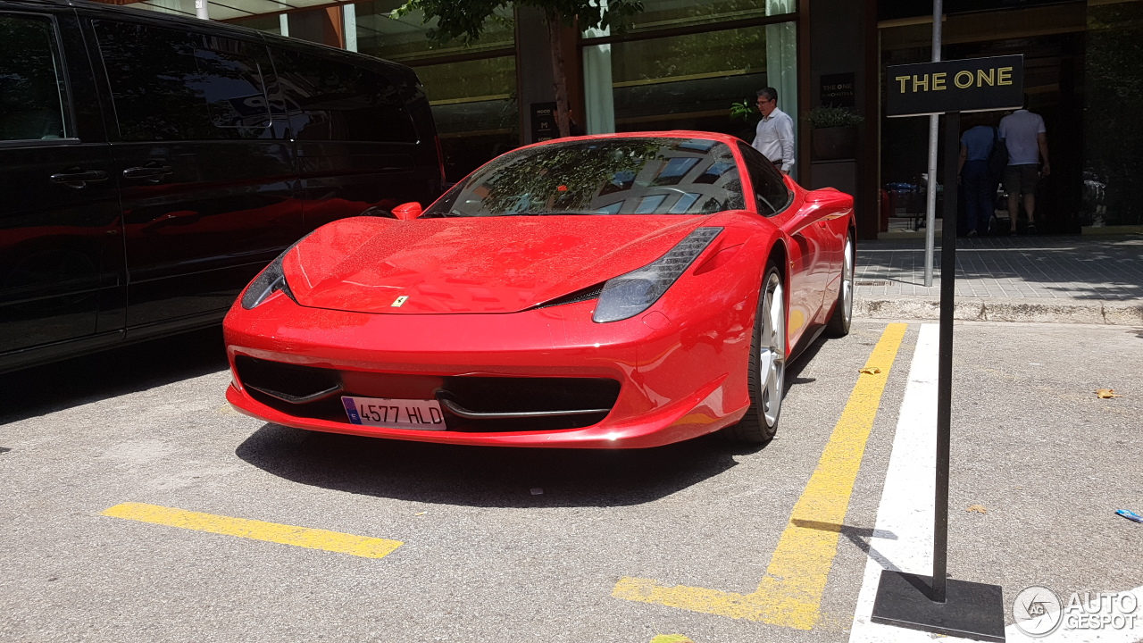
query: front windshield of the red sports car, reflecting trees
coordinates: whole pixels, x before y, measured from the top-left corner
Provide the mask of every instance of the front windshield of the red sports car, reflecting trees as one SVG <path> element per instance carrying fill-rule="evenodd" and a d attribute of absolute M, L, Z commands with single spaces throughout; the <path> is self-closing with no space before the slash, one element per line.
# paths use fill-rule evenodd
<path fill-rule="evenodd" d="M 738 167 L 724 143 L 598 138 L 493 159 L 422 216 L 698 215 L 743 204 Z"/>

